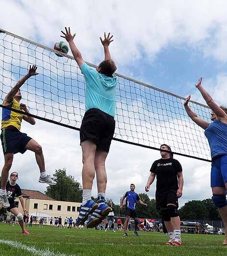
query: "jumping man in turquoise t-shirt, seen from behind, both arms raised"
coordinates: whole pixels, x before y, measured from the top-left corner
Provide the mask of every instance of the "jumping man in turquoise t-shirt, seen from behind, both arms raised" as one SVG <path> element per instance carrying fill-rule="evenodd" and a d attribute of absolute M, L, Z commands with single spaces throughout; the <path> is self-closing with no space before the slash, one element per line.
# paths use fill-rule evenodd
<path fill-rule="evenodd" d="M 89 67 L 82 58 L 71 35 L 70 28 L 62 31 L 69 42 L 73 56 L 81 69 L 86 81 L 85 108 L 86 112 L 80 127 L 80 145 L 83 152 L 83 202 L 76 225 L 82 225 L 89 215 L 87 227 L 94 228 L 112 211 L 105 204 L 107 176 L 105 160 L 110 149 L 115 129 L 115 97 L 117 78 L 114 75 L 116 66 L 109 52 L 109 44 L 113 41 L 110 33 L 101 43 L 105 59 L 97 68 Z M 98 202 L 91 200 L 93 180 L 97 178 Z"/>

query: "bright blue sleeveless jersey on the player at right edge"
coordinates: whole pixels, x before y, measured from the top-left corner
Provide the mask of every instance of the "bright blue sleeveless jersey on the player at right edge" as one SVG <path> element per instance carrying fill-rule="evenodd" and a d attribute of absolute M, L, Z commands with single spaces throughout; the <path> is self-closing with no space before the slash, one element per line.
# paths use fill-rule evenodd
<path fill-rule="evenodd" d="M 211 148 L 211 157 L 227 154 L 227 124 L 214 120 L 205 130 Z"/>

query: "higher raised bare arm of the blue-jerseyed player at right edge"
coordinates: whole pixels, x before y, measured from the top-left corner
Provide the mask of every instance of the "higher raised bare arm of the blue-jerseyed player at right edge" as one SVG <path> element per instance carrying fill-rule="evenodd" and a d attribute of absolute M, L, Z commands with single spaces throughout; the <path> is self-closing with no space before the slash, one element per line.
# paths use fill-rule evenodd
<path fill-rule="evenodd" d="M 216 114 L 217 118 L 220 119 L 226 119 L 227 120 L 227 114 L 226 112 L 221 109 L 213 100 L 213 98 L 211 97 L 210 94 L 208 94 L 208 92 L 202 87 L 202 77 L 199 79 L 198 83 L 195 85 L 200 93 L 202 94 L 202 97 L 204 98 L 204 100 L 206 101 L 207 105 L 214 111 L 214 113 Z"/>

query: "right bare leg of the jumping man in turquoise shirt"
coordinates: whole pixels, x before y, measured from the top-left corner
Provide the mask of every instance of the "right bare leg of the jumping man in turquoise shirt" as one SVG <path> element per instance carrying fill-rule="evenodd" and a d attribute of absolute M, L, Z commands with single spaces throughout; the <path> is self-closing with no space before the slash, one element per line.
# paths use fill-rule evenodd
<path fill-rule="evenodd" d="M 97 187 L 98 193 L 102 192 L 105 193 L 106 191 L 106 183 L 107 183 L 107 176 L 106 176 L 106 169 L 105 169 L 105 160 L 108 153 L 101 150 L 96 150 L 95 152 L 95 171 L 96 171 L 96 179 L 97 179 Z"/>

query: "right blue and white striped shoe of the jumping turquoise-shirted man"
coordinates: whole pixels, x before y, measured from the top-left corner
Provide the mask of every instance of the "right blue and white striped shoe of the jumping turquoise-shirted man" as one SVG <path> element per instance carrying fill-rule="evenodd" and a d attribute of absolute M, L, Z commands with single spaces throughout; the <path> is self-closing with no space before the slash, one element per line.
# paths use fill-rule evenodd
<path fill-rule="evenodd" d="M 93 212 L 88 221 L 87 228 L 95 228 L 98 226 L 102 220 L 107 216 L 110 212 L 112 212 L 112 208 L 105 203 L 101 203 L 98 208 Z"/>

